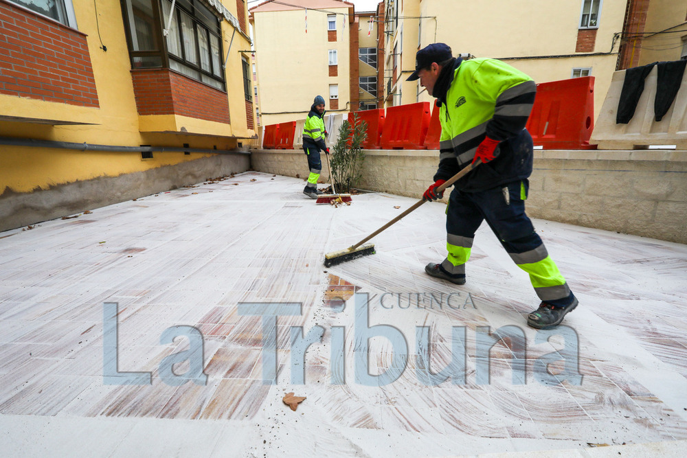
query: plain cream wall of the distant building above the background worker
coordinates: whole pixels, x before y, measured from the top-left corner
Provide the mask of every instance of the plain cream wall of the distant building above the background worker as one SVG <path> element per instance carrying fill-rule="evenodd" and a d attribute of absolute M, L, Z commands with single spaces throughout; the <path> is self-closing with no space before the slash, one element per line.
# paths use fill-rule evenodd
<path fill-rule="evenodd" d="M 327 11 L 348 14 L 348 8 Z M 339 84 L 339 109 L 350 102 L 350 23 L 337 14 L 337 41 L 327 38 L 327 12 L 304 10 L 253 13 L 262 124 L 304 118 L 315 95 L 329 110 L 329 84 Z M 329 49 L 337 49 L 338 76 L 329 76 Z M 283 114 L 269 114 L 281 113 Z"/>

